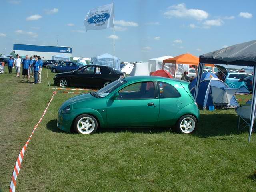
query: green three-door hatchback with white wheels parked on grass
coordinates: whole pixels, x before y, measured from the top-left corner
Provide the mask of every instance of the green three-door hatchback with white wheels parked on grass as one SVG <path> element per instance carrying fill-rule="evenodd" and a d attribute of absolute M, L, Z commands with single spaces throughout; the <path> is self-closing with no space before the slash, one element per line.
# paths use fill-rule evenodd
<path fill-rule="evenodd" d="M 108 127 L 176 127 L 189 134 L 199 120 L 188 82 L 158 76 L 120 78 L 97 92 L 68 99 L 58 110 L 57 126 L 93 134 Z"/>

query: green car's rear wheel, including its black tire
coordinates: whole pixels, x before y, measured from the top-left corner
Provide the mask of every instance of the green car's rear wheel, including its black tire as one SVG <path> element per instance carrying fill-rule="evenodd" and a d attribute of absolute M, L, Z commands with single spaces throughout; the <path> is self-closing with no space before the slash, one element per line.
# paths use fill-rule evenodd
<path fill-rule="evenodd" d="M 176 122 L 175 128 L 178 133 L 190 134 L 196 129 L 196 126 L 197 120 L 194 116 L 184 115 Z"/>

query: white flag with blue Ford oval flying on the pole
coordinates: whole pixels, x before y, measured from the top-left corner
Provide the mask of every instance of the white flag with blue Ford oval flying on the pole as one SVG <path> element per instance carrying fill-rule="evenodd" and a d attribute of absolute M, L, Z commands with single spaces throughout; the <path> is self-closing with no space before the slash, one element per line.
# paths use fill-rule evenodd
<path fill-rule="evenodd" d="M 86 31 L 114 27 L 113 3 L 91 9 L 84 19 Z"/>

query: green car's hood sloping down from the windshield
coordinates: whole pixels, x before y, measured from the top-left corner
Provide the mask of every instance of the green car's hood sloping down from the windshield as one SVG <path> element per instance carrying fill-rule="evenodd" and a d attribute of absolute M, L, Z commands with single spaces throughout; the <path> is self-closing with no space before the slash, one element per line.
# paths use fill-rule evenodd
<path fill-rule="evenodd" d="M 80 108 L 80 102 L 88 102 L 91 100 L 95 100 L 98 99 L 94 96 L 92 96 L 90 93 L 86 93 L 86 94 L 82 94 L 82 95 L 78 95 L 75 97 L 72 97 L 68 100 L 66 100 L 62 106 L 60 106 L 60 110 L 62 110 L 63 108 L 65 108 L 68 105 L 73 105 L 73 108 Z"/>

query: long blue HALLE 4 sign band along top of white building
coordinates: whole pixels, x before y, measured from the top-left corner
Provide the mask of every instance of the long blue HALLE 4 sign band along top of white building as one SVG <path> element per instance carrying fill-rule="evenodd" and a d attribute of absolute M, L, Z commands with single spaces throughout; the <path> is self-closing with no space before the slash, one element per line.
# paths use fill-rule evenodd
<path fill-rule="evenodd" d="M 24 44 L 13 44 L 13 50 L 53 52 L 53 53 L 72 53 L 72 47 L 24 45 Z"/>

